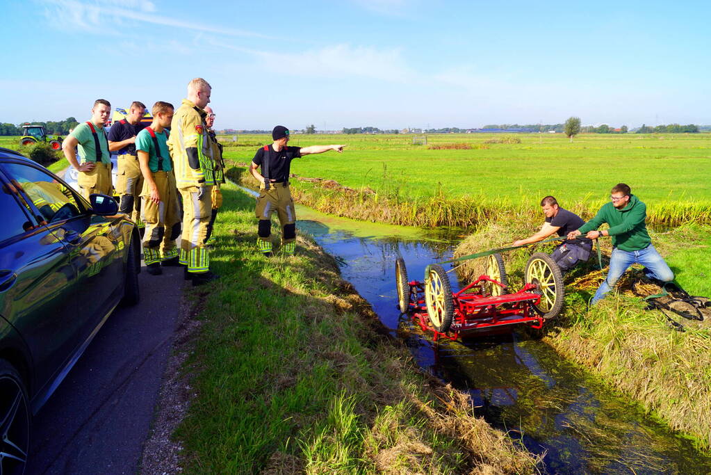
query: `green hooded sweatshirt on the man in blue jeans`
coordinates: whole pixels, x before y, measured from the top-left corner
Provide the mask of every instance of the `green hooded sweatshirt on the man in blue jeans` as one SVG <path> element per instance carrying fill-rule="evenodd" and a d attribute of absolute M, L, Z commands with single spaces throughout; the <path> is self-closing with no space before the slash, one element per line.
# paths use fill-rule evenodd
<path fill-rule="evenodd" d="M 622 209 L 605 203 L 592 220 L 579 229 L 583 235 L 588 231 L 597 230 L 602 223 L 609 224 L 607 230 L 612 237 L 612 245 L 624 251 L 642 250 L 651 244 L 644 221 L 647 218 L 647 206 L 634 196 L 629 196 L 629 203 Z"/>

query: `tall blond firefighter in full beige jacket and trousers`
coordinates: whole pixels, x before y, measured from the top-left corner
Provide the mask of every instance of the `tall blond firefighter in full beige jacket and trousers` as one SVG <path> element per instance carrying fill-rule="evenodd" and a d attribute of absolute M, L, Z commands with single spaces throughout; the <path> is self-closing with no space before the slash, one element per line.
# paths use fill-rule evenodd
<path fill-rule="evenodd" d="M 185 278 L 192 279 L 193 285 L 217 278 L 210 272 L 210 251 L 205 246 L 213 195 L 215 201 L 221 198 L 214 186 L 213 149 L 203 110 L 210 102 L 210 92 L 204 79 L 191 80 L 188 98 L 173 115 L 168 139 L 176 184 L 183 198 L 180 263 L 186 266 Z"/>

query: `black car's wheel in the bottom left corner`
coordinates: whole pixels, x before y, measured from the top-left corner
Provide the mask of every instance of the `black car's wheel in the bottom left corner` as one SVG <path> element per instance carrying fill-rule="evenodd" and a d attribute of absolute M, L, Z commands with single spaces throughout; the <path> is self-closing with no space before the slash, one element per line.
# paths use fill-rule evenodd
<path fill-rule="evenodd" d="M 2 422 L 12 406 L 17 405 L 15 415 L 9 425 L 0 426 L 0 452 L 9 452 L 21 457 L 21 453 L 4 442 L 5 436 L 25 452 L 24 461 L 11 457 L 0 459 L 0 471 L 3 474 L 22 474 L 27 465 L 30 449 L 31 413 L 27 388 L 15 368 L 6 360 L 0 359 L 0 422 Z"/>

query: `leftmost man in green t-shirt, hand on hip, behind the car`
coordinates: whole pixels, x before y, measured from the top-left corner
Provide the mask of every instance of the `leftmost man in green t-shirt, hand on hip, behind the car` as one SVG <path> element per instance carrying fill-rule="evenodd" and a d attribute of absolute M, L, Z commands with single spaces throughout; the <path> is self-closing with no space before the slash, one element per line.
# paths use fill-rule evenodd
<path fill-rule="evenodd" d="M 91 113 L 91 120 L 77 125 L 62 143 L 64 156 L 79 171 L 77 185 L 87 200 L 92 193 L 110 195 L 114 187 L 111 183 L 109 143 L 104 130 L 104 124 L 111 114 L 111 104 L 105 99 L 97 99 Z M 77 146 L 80 156 L 78 161 Z"/>

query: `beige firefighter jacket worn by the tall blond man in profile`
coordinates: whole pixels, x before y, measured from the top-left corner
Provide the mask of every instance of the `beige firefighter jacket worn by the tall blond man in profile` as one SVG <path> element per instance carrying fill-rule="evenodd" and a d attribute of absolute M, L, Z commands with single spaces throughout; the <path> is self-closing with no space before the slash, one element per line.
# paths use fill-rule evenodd
<path fill-rule="evenodd" d="M 173 157 L 178 188 L 215 184 L 212 139 L 205 126 L 205 115 L 187 99 L 183 99 L 173 114 L 168 149 Z"/>

